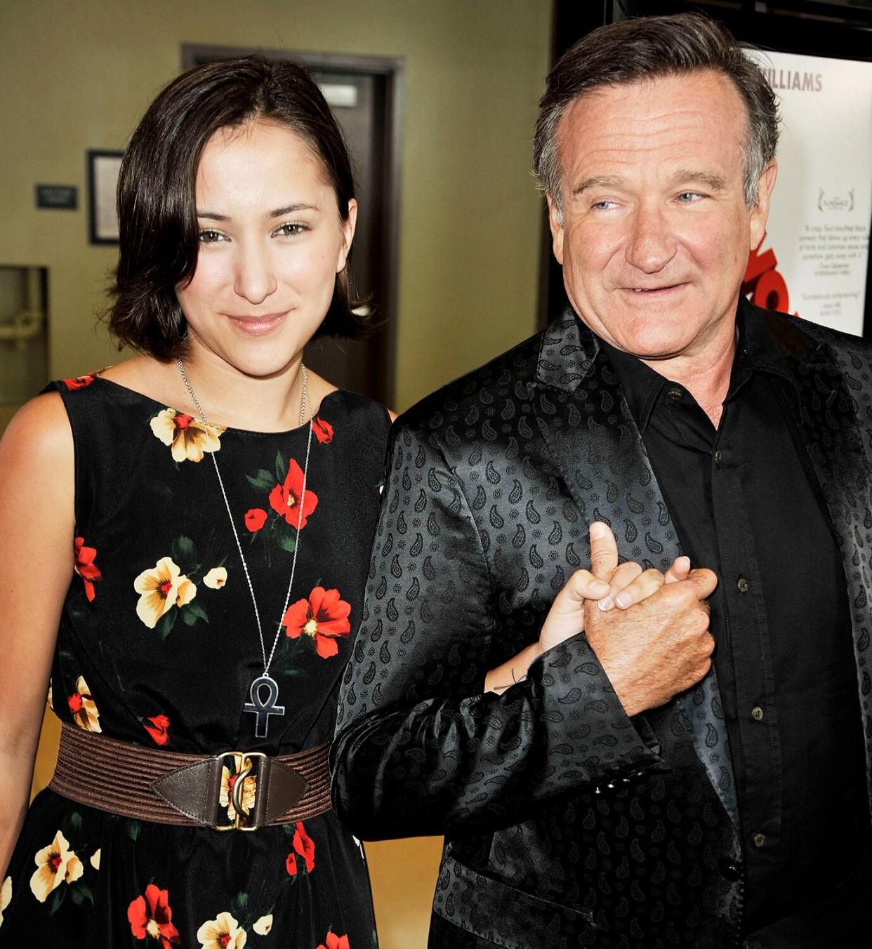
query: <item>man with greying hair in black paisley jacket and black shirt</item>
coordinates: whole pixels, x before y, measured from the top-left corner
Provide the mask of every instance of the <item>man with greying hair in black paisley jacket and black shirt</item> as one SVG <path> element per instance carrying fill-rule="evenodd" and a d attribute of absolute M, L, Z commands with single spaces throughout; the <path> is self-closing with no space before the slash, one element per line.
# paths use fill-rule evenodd
<path fill-rule="evenodd" d="M 681 14 L 540 104 L 571 308 L 395 426 L 335 807 L 445 835 L 434 947 L 868 946 L 870 350 L 741 296 L 770 87 Z"/>

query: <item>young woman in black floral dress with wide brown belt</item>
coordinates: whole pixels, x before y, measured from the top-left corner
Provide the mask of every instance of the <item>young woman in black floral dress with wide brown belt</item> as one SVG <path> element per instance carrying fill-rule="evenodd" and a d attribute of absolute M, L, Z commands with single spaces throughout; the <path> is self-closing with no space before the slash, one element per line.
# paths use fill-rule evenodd
<path fill-rule="evenodd" d="M 140 355 L 0 445 L 0 945 L 371 949 L 326 749 L 390 419 L 303 364 L 361 328 L 342 135 L 295 65 L 200 66 L 119 205 L 109 326 Z"/>

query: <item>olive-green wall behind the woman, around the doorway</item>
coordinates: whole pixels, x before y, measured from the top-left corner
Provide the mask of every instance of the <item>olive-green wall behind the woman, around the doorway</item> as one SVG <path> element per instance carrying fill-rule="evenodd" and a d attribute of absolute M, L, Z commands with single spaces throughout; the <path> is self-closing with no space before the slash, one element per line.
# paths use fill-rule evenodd
<path fill-rule="evenodd" d="M 533 330 L 529 175 L 550 0 L 6 0 L 0 265 L 49 269 L 51 376 L 115 362 L 95 312 L 114 251 L 87 244 L 87 148 L 122 148 L 182 43 L 405 60 L 396 407 Z M 33 185 L 76 184 L 77 212 Z M 2 419 L 0 419 L 2 423 Z"/>

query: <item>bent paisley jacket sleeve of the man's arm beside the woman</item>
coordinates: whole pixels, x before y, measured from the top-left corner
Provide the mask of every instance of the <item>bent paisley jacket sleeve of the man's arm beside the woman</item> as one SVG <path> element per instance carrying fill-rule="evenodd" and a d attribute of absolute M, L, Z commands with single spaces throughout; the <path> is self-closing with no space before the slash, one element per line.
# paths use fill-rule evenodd
<path fill-rule="evenodd" d="M 330 753 L 345 824 L 368 840 L 506 827 L 567 791 L 663 770 L 583 633 L 483 693 L 499 578 L 438 447 L 408 426 L 392 446 Z"/>

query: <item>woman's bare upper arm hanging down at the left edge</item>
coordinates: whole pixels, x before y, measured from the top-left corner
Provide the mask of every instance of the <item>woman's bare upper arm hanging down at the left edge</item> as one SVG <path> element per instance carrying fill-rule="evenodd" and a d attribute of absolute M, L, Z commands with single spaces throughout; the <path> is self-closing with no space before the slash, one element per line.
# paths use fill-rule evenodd
<path fill-rule="evenodd" d="M 56 393 L 0 440 L 0 878 L 28 809 L 51 658 L 73 571 L 73 438 Z"/>

